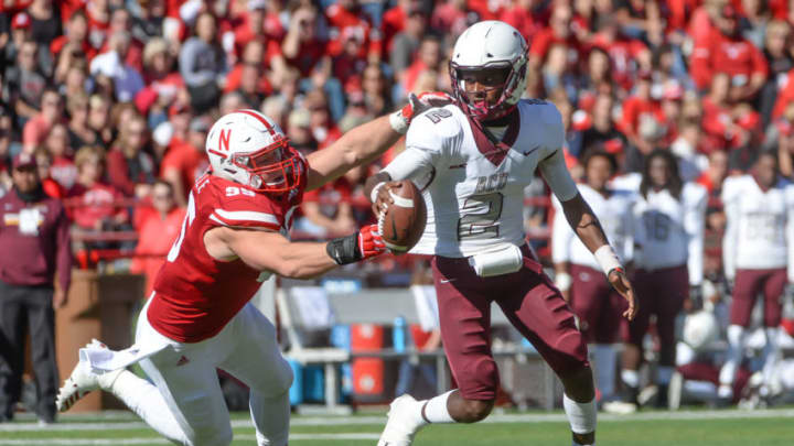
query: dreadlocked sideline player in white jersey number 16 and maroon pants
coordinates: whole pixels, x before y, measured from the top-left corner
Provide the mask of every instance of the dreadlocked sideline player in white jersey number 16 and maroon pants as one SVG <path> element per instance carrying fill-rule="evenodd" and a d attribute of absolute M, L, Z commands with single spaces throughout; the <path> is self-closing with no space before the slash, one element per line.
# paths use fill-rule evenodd
<path fill-rule="evenodd" d="M 690 293 L 702 282 L 706 188 L 684 183 L 678 163 L 668 150 L 645 159 L 640 194 L 633 207 L 634 264 L 640 312 L 629 325 L 621 379 L 625 402 L 636 404 L 643 338 L 656 315 L 661 352 L 656 383 L 657 405 L 667 405 L 667 389 L 675 367 L 675 318 Z"/>

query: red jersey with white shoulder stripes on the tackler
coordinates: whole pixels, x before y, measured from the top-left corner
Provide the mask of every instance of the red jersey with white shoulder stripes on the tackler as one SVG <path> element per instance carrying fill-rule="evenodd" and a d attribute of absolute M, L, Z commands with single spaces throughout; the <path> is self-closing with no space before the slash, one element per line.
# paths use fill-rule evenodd
<path fill-rule="evenodd" d="M 273 196 L 218 176 L 201 177 L 191 191 L 182 231 L 154 280 L 148 312 L 152 327 L 180 342 L 197 342 L 221 331 L 270 273 L 239 259 L 213 259 L 204 248 L 204 233 L 226 226 L 287 236 L 304 185 L 302 175 L 296 191 Z"/>

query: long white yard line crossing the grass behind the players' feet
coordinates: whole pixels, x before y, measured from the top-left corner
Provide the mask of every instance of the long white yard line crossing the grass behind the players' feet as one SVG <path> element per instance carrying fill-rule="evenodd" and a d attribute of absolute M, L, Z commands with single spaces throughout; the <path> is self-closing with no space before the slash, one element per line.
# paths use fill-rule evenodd
<path fill-rule="evenodd" d="M 653 421 L 653 420 L 736 420 L 736 418 L 772 418 L 792 417 L 794 409 L 786 410 L 758 410 L 758 411 L 677 411 L 677 412 L 640 412 L 631 415 L 599 414 L 599 421 Z M 544 423 L 566 422 L 562 413 L 530 413 L 530 414 L 493 414 L 483 423 Z M 375 425 L 386 423 L 386 416 L 307 416 L 294 417 L 290 422 L 292 426 L 350 426 L 350 425 Z M 58 423 L 50 426 L 39 426 L 36 423 L 6 423 L 0 424 L 0 432 L 64 432 L 64 431 L 133 431 L 146 428 L 147 425 L 140 421 L 129 423 Z M 253 427 L 250 420 L 234 420 L 232 427 Z M 0 445 L 4 443 L 0 442 Z"/>

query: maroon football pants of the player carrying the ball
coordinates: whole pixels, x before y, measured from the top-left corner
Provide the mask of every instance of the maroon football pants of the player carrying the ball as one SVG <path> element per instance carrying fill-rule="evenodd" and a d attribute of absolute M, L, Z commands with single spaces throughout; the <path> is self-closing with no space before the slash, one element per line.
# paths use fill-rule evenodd
<path fill-rule="evenodd" d="M 493 400 L 498 371 L 491 352 L 491 303 L 496 302 L 559 377 L 590 367 L 573 313 L 529 249 L 511 274 L 480 278 L 468 258 L 434 257 L 441 339 L 452 376 L 466 400 Z"/>

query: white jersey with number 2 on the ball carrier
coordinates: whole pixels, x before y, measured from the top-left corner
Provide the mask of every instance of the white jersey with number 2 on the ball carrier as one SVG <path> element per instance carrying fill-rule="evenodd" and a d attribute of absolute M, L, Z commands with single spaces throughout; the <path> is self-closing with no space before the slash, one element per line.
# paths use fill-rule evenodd
<path fill-rule="evenodd" d="M 459 258 L 497 243 L 523 244 L 524 188 L 536 167 L 561 199 L 576 195 L 557 108 L 521 100 L 507 120 L 503 142 L 494 144 L 455 105 L 414 119 L 406 150 L 384 170 L 423 188 L 428 220 L 412 253 Z"/>

